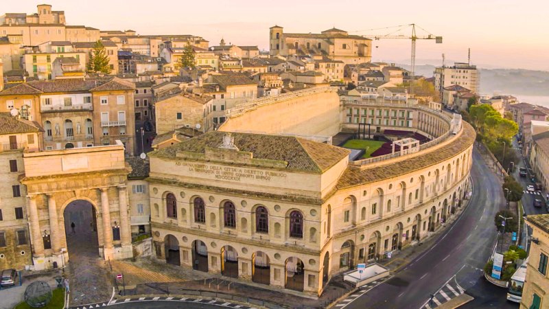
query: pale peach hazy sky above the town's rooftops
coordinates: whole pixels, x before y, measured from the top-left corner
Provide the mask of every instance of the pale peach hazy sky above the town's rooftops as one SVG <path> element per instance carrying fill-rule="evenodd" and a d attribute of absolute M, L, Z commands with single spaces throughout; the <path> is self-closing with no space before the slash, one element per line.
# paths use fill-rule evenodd
<path fill-rule="evenodd" d="M 5 12 L 34 13 L 38 4 L 4 1 L 0 10 Z M 44 2 L 53 5 L 52 10 L 65 10 L 70 25 L 132 29 L 139 34 L 194 34 L 210 45 L 218 45 L 224 37 L 227 43 L 260 49 L 268 49 L 268 28 L 274 24 L 285 32 L 318 33 L 335 26 L 352 34 L 389 34 L 396 28 L 371 29 L 416 23 L 444 38 L 443 44 L 418 41 L 417 64 L 438 65 L 443 53 L 447 60 L 465 62 L 470 47 L 471 62 L 481 67 L 549 70 L 549 3 L 544 0 Z M 409 35 L 410 30 L 395 34 Z M 375 41 L 373 46 L 373 60 L 410 61 L 408 40 Z"/>

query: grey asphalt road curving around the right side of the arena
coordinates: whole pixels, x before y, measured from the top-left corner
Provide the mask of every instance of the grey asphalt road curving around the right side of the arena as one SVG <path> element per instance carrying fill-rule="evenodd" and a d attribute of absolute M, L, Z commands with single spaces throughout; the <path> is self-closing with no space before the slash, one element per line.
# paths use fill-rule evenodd
<path fill-rule="evenodd" d="M 470 308 L 517 308 L 506 301 L 506 289 L 491 286 L 482 273 L 495 244 L 497 233 L 493 218 L 504 207 L 504 196 L 500 181 L 476 150 L 473 162 L 474 193 L 454 225 L 395 277 L 338 308 L 418 309 L 449 282 L 457 283 L 467 293 L 475 290 L 476 299 Z"/>

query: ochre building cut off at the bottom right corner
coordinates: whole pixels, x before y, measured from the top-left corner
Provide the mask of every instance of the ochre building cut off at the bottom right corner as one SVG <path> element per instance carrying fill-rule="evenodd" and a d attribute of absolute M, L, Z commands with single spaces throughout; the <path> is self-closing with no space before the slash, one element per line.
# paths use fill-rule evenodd
<path fill-rule="evenodd" d="M 520 308 L 548 308 L 549 215 L 527 216 L 526 224 L 532 229 L 532 242 L 526 264 L 526 280 L 522 288 Z"/>

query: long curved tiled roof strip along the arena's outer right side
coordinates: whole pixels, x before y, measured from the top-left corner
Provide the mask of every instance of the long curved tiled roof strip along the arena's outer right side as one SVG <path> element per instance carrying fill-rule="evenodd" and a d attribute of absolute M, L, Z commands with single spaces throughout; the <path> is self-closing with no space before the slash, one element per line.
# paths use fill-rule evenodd
<path fill-rule="evenodd" d="M 470 124 L 467 124 L 467 122 L 463 122 L 463 133 L 461 133 L 460 137 L 452 141 L 451 144 L 432 152 L 372 168 L 366 167 L 361 169 L 358 166 L 349 165 L 340 177 L 337 188 L 344 189 L 346 187 L 354 187 L 355 185 L 363 185 L 364 183 L 373 183 L 428 168 L 469 148 L 474 143 L 475 138 L 476 133 L 474 128 Z"/>

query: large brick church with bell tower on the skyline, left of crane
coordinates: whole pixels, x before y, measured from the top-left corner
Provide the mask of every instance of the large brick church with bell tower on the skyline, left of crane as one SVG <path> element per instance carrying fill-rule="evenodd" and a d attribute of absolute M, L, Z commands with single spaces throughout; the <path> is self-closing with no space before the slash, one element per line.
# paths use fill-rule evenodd
<path fill-rule="evenodd" d="M 318 55 L 340 60 L 344 65 L 370 62 L 371 39 L 332 28 L 320 34 L 285 33 L 274 25 L 269 30 L 271 56 Z M 342 67 L 343 69 L 343 67 Z"/>

